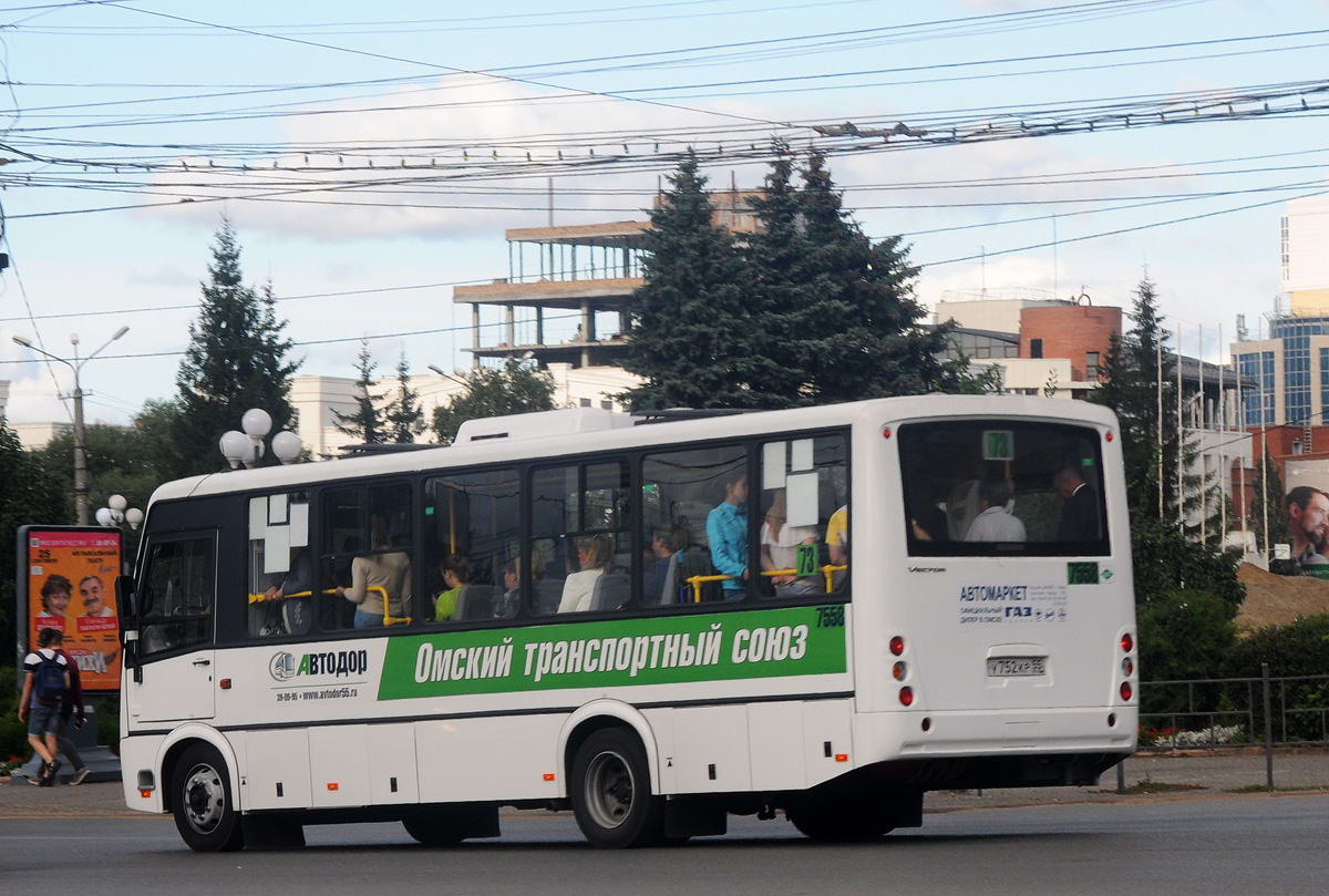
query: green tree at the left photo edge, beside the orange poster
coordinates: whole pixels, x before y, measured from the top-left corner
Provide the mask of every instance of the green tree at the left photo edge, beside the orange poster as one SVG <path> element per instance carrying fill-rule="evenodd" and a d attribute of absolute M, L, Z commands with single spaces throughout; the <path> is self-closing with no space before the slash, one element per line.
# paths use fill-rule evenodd
<path fill-rule="evenodd" d="M 72 493 L 73 473 L 65 487 L 24 451 L 17 433 L 0 417 L 0 643 L 7 645 L 0 666 L 13 665 L 13 651 L 8 646 L 16 638 L 13 613 L 19 569 L 15 545 L 19 526 L 73 524 Z"/>

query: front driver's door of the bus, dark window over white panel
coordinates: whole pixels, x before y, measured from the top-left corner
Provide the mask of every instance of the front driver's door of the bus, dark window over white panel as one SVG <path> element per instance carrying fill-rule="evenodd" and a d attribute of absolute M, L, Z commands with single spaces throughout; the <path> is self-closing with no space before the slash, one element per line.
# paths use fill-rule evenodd
<path fill-rule="evenodd" d="M 213 718 L 217 536 L 152 537 L 126 639 L 129 723 Z"/>

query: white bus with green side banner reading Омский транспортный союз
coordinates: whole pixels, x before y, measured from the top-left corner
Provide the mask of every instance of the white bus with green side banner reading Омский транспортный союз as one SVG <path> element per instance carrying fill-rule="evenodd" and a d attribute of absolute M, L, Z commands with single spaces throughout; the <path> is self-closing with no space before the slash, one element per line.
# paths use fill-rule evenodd
<path fill-rule="evenodd" d="M 994 396 L 570 409 L 170 483 L 117 584 L 126 802 L 201 851 L 493 838 L 501 807 L 631 847 L 1092 783 L 1136 742 L 1115 427 Z"/>

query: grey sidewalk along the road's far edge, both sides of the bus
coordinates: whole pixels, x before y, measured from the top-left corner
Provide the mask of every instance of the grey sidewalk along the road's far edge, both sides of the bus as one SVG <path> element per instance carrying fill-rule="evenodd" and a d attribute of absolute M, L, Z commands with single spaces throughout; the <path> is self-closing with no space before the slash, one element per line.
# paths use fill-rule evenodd
<path fill-rule="evenodd" d="M 3 779 L 0 779 L 3 780 Z M 1026 790 L 936 791 L 924 811 L 998 808 L 1059 803 L 1120 803 L 1197 798 L 1237 798 L 1233 791 L 1263 787 L 1265 758 L 1259 748 L 1138 754 L 1126 760 L 1127 792 L 1116 792 L 1116 771 L 1098 787 L 1037 787 Z M 1276 790 L 1321 791 L 1329 795 L 1329 751 L 1275 751 Z M 506 811 L 505 811 L 506 814 Z M 32 787 L 24 780 L 0 783 L 0 818 L 154 818 L 125 808 L 120 782 L 80 787 Z"/>

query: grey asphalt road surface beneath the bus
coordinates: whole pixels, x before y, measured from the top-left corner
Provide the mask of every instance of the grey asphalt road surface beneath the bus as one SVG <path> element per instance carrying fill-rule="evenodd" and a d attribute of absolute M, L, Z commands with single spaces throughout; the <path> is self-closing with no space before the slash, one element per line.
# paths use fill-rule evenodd
<path fill-rule="evenodd" d="M 36 790 L 36 788 L 33 788 Z M 504 838 L 448 849 L 396 824 L 310 828 L 287 852 L 189 852 L 166 819 L 0 819 L 5 893 L 392 892 L 468 896 L 1317 893 L 1329 880 L 1329 794 L 961 808 L 878 843 L 823 845 L 783 820 L 639 852 L 587 847 L 569 814 L 504 819 Z"/>

